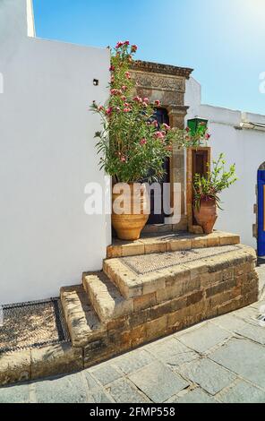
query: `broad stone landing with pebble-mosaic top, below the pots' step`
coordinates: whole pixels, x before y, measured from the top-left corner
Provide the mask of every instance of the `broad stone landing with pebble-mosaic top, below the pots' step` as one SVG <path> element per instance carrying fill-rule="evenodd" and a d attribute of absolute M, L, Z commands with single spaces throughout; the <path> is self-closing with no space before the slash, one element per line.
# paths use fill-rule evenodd
<path fill-rule="evenodd" d="M 223 245 L 200 250 L 159 253 L 107 259 L 103 270 L 126 299 L 156 293 L 157 302 L 194 289 L 193 280 L 210 283 L 209 273 L 227 270 L 235 262 L 249 262 L 253 270 L 256 254 L 245 245 Z M 232 268 L 233 271 L 233 268 Z M 206 279 L 206 280 L 205 280 Z"/>

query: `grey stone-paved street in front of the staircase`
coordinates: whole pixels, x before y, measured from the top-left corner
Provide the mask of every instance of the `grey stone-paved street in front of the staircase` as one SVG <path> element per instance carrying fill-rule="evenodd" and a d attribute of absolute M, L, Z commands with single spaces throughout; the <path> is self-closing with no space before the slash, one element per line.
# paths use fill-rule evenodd
<path fill-rule="evenodd" d="M 265 402 L 265 326 L 257 320 L 262 305 L 81 373 L 2 388 L 0 402 Z"/>

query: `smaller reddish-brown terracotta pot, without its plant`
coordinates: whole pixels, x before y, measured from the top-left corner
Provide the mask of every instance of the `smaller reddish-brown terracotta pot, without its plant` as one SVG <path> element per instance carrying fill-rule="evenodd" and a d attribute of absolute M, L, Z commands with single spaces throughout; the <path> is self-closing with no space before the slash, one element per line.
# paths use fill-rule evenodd
<path fill-rule="evenodd" d="M 214 224 L 218 219 L 216 201 L 201 201 L 200 211 L 194 208 L 194 217 L 205 234 L 212 233 Z"/>

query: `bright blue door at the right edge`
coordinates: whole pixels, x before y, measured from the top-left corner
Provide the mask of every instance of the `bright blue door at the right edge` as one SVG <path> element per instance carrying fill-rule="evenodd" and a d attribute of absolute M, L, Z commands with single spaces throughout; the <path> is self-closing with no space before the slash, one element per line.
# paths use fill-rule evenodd
<path fill-rule="evenodd" d="M 265 256 L 265 170 L 258 171 L 258 255 Z"/>

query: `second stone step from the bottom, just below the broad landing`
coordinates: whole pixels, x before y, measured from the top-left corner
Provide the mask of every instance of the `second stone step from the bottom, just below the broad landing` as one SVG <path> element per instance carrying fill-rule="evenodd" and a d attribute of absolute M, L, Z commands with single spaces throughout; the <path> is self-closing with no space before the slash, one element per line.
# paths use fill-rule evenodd
<path fill-rule="evenodd" d="M 104 272 L 84 274 L 82 284 L 101 322 L 133 313 L 133 300 L 124 299 Z"/>

